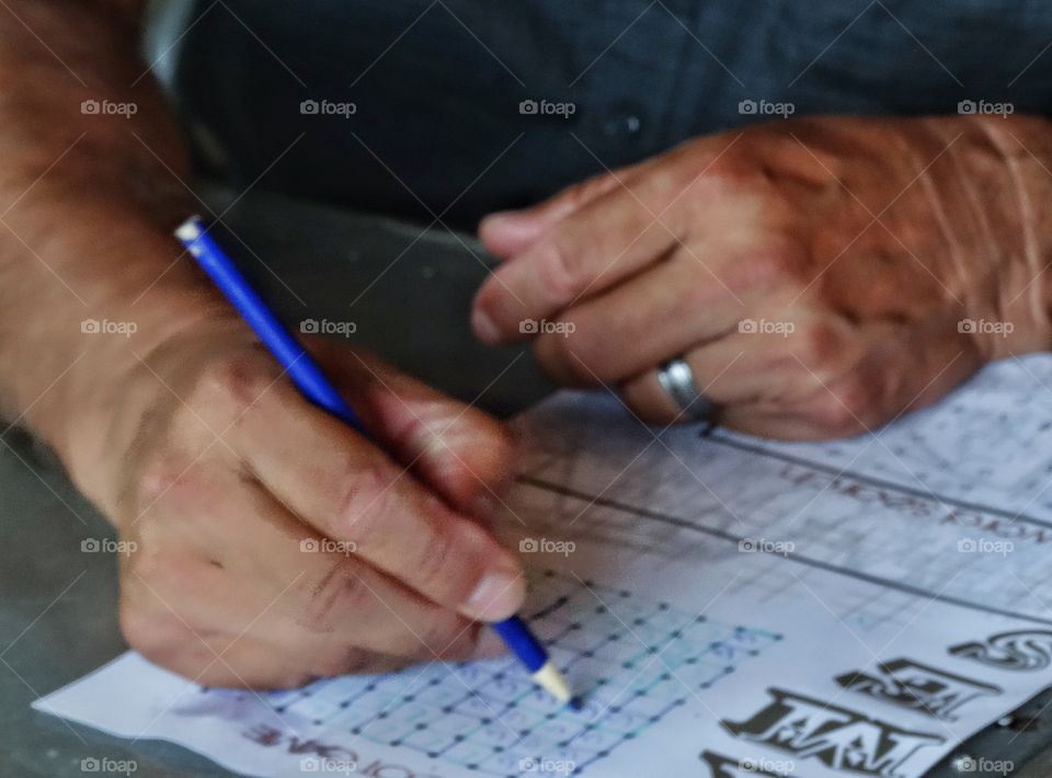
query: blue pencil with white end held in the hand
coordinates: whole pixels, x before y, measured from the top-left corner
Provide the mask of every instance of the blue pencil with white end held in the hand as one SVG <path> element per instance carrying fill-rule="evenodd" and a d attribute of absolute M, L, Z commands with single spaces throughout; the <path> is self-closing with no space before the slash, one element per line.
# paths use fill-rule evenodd
<path fill-rule="evenodd" d="M 299 341 L 277 320 L 230 258 L 208 236 L 201 218 L 195 216 L 187 219 L 175 230 L 175 237 L 238 309 L 304 396 L 362 435 L 368 436 L 358 414 L 329 382 Z M 522 618 L 513 616 L 492 627 L 512 653 L 526 666 L 537 684 L 562 702 L 571 701 L 572 696 L 565 678 Z"/>

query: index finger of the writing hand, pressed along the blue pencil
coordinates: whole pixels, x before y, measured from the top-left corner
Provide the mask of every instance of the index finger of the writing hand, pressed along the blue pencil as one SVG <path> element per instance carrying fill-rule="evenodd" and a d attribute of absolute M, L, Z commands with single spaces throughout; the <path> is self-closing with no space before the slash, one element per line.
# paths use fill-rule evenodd
<path fill-rule="evenodd" d="M 483 620 L 506 618 L 522 603 L 521 568 L 507 550 L 290 385 L 263 392 L 231 436 L 294 514 L 324 537 L 354 542 L 362 559 L 432 602 Z"/>

